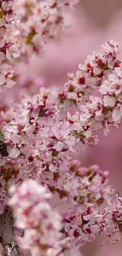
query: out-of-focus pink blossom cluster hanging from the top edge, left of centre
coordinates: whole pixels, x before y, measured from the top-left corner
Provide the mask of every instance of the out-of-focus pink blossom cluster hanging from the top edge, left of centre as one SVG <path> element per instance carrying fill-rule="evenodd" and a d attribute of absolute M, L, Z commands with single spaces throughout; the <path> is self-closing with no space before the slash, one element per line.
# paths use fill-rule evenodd
<path fill-rule="evenodd" d="M 23 9 L 19 31 L 21 37 L 20 52 L 26 57 L 31 54 L 43 54 L 43 46 L 49 39 L 57 37 L 65 27 L 63 6 L 73 7 L 79 0 L 39 1 L 24 0 L 18 4 Z"/>

